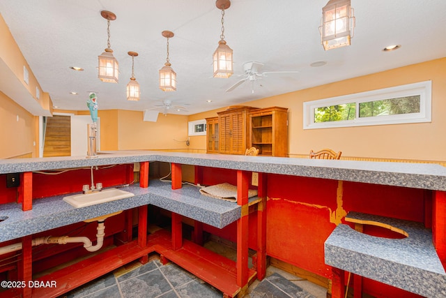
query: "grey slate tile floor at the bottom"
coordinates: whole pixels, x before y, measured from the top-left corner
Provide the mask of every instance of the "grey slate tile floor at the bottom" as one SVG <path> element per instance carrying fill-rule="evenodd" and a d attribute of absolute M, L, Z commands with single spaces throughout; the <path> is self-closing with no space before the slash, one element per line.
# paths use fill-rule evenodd
<path fill-rule="evenodd" d="M 91 281 L 81 288 L 68 292 L 67 298 L 213 298 L 222 297 L 222 292 L 204 283 L 196 276 L 174 263 L 162 265 L 152 260 L 146 265 L 134 263 L 132 268 L 121 268 Z M 290 277 L 291 276 L 291 277 Z M 255 281 L 249 287 L 248 298 L 325 298 L 325 289 L 312 283 L 296 285 L 289 279 L 299 278 L 284 271 L 269 267 L 267 278 Z M 305 284 L 306 283 L 306 284 Z M 303 285 L 302 289 L 300 285 Z M 305 287 L 306 285 L 306 287 Z M 308 291 L 308 292 L 307 292 Z"/>

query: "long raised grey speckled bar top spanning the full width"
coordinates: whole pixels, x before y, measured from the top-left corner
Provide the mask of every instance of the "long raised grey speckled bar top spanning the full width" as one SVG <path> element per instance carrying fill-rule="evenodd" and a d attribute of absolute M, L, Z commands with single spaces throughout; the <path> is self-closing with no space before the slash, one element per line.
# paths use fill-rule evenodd
<path fill-rule="evenodd" d="M 192 154 L 162 151 L 104 151 L 97 158 L 66 156 L 0 160 L 0 174 L 91 165 L 162 161 L 234 170 L 335 179 L 446 191 L 446 167 L 428 163 L 332 161 L 307 158 Z"/>

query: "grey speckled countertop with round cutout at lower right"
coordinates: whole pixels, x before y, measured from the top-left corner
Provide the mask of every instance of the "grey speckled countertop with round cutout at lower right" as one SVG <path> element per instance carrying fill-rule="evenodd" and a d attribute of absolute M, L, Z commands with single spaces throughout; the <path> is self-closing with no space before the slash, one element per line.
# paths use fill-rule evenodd
<path fill-rule="evenodd" d="M 425 297 L 446 297 L 446 273 L 421 223 L 350 212 L 347 218 L 385 223 L 408 237 L 387 239 L 338 225 L 325 241 L 325 264 Z"/>

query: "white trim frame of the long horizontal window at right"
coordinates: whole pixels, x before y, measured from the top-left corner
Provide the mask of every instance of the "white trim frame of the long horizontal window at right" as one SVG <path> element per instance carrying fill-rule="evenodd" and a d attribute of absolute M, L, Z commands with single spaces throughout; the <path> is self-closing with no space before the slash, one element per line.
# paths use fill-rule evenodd
<path fill-rule="evenodd" d="M 420 112 L 418 113 L 397 114 L 380 117 L 359 117 L 360 103 L 416 95 L 420 95 Z M 397 87 L 361 92 L 357 94 L 348 94 L 346 96 L 337 96 L 332 98 L 307 101 L 304 102 L 303 128 L 316 129 L 431 122 L 431 102 L 431 81 L 406 84 Z M 356 103 L 356 115 L 354 120 L 314 123 L 314 109 L 316 109 L 317 107 L 327 107 L 330 105 L 340 105 L 345 103 Z"/>

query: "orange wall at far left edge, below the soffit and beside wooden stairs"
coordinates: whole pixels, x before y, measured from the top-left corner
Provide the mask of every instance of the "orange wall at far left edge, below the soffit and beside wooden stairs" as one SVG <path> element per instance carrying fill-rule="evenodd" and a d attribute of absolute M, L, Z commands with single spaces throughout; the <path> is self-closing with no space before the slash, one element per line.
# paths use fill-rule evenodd
<path fill-rule="evenodd" d="M 0 158 L 11 158 L 31 153 L 36 157 L 38 133 L 36 119 L 14 100 L 0 92 Z M 19 120 L 17 121 L 17 116 Z M 33 145 L 36 142 L 36 146 Z"/>

